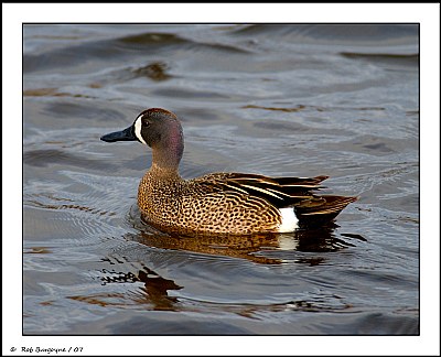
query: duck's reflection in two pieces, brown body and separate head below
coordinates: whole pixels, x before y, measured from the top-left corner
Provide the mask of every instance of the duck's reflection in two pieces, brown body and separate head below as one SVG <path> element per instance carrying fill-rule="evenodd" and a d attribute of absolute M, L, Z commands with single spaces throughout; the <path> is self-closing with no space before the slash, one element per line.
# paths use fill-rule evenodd
<path fill-rule="evenodd" d="M 252 236 L 170 236 L 143 225 L 142 229 L 139 226 L 137 227 L 138 234 L 128 234 L 125 238 L 148 247 L 233 257 L 259 264 L 291 262 L 318 266 L 326 260 L 325 255 L 321 255 L 322 252 L 353 247 L 354 239 L 366 240 L 355 234 L 340 234 L 337 236 L 334 232 L 337 227 L 337 225 L 331 224 L 315 229 L 300 229 L 293 234 Z M 303 252 L 316 253 L 304 255 Z M 176 284 L 173 280 L 161 277 L 146 267 L 143 262 L 133 262 L 132 259 L 119 255 L 106 257 L 103 262 L 112 267 L 100 271 L 99 279 L 103 284 L 136 283 L 137 288 L 135 290 L 130 289 L 126 293 L 114 293 L 111 296 L 96 294 L 94 296 L 72 296 L 72 299 L 95 304 L 99 303 L 103 306 L 108 304 L 122 306 L 129 302 L 129 305 L 143 305 L 148 310 L 155 311 L 189 309 L 181 304 L 180 298 L 173 296 L 173 291 L 181 290 L 183 286 Z M 127 272 L 126 269 L 131 270 L 131 272 Z M 142 285 L 139 285 L 140 282 Z"/>

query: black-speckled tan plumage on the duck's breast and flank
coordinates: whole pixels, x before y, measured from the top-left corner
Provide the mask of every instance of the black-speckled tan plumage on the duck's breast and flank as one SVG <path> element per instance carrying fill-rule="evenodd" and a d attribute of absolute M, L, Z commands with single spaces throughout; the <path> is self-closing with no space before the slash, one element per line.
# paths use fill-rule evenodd
<path fill-rule="evenodd" d="M 150 224 L 180 232 L 251 234 L 276 231 L 280 214 L 262 197 L 228 190 L 225 174 L 185 181 L 154 166 L 142 177 L 138 206 Z"/>

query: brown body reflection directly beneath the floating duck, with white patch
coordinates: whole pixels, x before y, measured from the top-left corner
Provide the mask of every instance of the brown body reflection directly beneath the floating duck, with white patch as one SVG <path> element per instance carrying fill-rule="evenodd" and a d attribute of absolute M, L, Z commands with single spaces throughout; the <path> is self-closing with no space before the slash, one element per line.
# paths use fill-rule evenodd
<path fill-rule="evenodd" d="M 334 223 L 320 228 L 299 229 L 290 234 L 258 234 L 249 236 L 237 235 L 165 235 L 154 228 L 138 226 L 139 234 L 127 235 L 126 239 L 138 241 L 149 247 L 172 250 L 185 250 L 196 253 L 241 258 L 263 264 L 280 264 L 293 252 L 327 252 L 336 251 L 354 245 L 334 234 L 338 226 Z M 343 236 L 343 235 L 341 235 Z M 351 239 L 366 240 L 359 235 L 347 235 Z M 277 252 L 277 257 L 272 253 Z M 319 258 L 297 259 L 295 262 L 318 264 Z"/>

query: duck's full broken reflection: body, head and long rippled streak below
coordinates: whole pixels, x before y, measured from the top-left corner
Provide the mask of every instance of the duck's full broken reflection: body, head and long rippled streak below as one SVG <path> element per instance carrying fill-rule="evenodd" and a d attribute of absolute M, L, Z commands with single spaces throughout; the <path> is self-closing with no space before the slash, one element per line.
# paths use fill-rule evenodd
<path fill-rule="evenodd" d="M 170 236 L 155 230 L 143 224 L 139 216 L 136 218 L 136 207 L 132 207 L 129 217 L 131 224 L 137 228 L 138 234 L 127 234 L 127 240 L 137 241 L 148 247 L 171 250 L 185 250 L 201 255 L 225 256 L 239 259 L 247 259 L 259 264 L 283 264 L 294 262 L 300 264 L 318 266 L 325 262 L 323 257 L 304 257 L 295 259 L 292 252 L 330 252 L 347 247 L 354 247 L 352 242 L 343 240 L 334 234 L 337 225 L 330 225 L 316 229 L 298 230 L 292 234 L 267 234 L 252 236 Z M 342 234 L 351 239 L 366 241 L 359 235 Z M 276 258 L 270 253 L 281 253 Z M 291 256 L 289 256 L 291 255 Z M 262 311 L 279 312 L 287 310 L 295 311 L 352 311 L 340 296 L 323 296 L 319 294 L 310 301 L 289 300 L 270 304 L 237 304 L 218 303 L 208 301 L 189 300 L 185 296 L 173 296 L 171 291 L 178 291 L 184 286 L 179 285 L 171 279 L 165 279 L 143 262 L 130 262 L 123 256 L 111 256 L 101 259 L 108 263 L 108 269 L 101 269 L 98 279 L 103 285 L 114 283 L 136 284 L 135 290 L 130 289 L 125 293 L 97 293 L 93 295 L 76 295 L 69 299 L 98 304 L 100 306 L 119 306 L 121 309 L 142 306 L 153 311 L 222 311 L 232 312 L 240 316 L 256 318 L 256 314 Z M 141 264 L 141 267 L 139 266 Z M 133 270 L 133 268 L 136 269 Z M 131 270 L 131 271 L 130 271 Z M 133 272 L 136 271 L 136 272 Z M 142 283 L 140 285 L 139 283 Z"/>

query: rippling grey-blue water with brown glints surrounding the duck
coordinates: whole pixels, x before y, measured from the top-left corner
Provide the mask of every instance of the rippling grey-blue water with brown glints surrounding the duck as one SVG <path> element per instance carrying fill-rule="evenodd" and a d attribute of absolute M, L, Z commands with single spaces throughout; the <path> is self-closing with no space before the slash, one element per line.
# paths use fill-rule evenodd
<path fill-rule="evenodd" d="M 417 25 L 24 25 L 25 335 L 419 334 Z M 325 174 L 329 229 L 168 237 L 151 152 L 107 144 L 149 107 L 184 177 Z"/>

